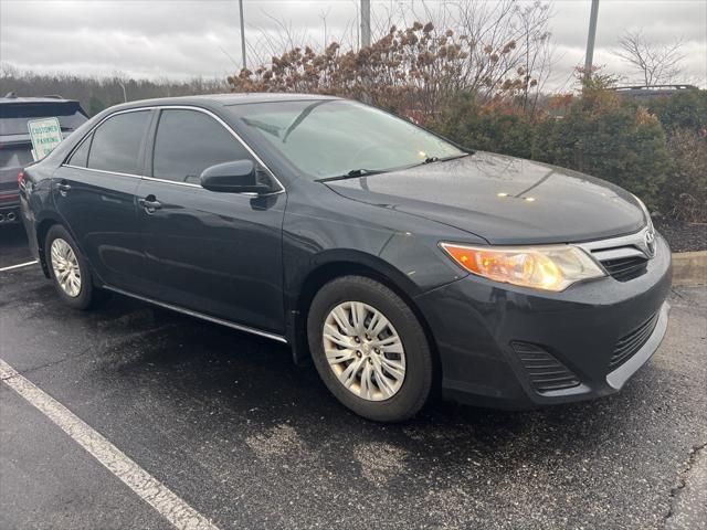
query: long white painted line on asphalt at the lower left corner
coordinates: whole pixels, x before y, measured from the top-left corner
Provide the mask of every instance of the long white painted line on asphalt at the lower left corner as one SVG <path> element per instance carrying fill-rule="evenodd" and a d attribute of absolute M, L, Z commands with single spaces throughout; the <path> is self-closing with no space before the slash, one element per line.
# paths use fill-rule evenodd
<path fill-rule="evenodd" d="M 62 428 L 71 438 L 123 480 L 143 500 L 180 530 L 218 530 L 211 521 L 138 466 L 68 409 L 20 375 L 0 359 L 0 379 Z"/>

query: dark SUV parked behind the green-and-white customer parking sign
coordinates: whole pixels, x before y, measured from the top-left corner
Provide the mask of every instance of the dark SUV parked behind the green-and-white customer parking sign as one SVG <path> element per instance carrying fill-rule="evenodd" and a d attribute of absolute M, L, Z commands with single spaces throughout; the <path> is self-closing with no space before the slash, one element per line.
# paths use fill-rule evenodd
<path fill-rule="evenodd" d="M 88 119 L 78 102 L 61 96 L 0 97 L 0 224 L 20 220 L 18 172 L 32 161 L 27 123 L 49 117 L 59 118 L 64 136 Z"/>

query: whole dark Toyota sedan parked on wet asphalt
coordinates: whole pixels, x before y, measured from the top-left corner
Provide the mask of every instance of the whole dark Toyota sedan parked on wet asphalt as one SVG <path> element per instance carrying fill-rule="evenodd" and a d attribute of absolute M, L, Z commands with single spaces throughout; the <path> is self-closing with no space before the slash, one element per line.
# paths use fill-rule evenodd
<path fill-rule="evenodd" d="M 109 290 L 286 342 L 371 420 L 435 388 L 511 409 L 610 394 L 666 330 L 671 252 L 637 198 L 346 99 L 125 104 L 21 180 L 66 304 Z"/>

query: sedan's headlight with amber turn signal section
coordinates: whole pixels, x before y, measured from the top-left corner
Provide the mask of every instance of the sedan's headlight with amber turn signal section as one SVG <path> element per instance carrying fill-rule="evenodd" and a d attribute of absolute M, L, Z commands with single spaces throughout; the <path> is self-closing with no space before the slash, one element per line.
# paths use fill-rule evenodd
<path fill-rule="evenodd" d="M 571 245 L 441 246 L 469 273 L 536 289 L 560 292 L 582 279 L 605 276 L 594 259 Z"/>

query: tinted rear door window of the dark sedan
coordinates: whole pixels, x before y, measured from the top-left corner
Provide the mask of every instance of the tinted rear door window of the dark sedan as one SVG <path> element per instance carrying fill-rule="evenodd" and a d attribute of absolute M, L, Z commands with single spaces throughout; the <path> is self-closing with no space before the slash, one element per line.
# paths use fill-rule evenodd
<path fill-rule="evenodd" d="M 149 110 L 139 110 L 105 120 L 93 134 L 88 168 L 138 174 L 140 147 L 149 115 Z"/>

